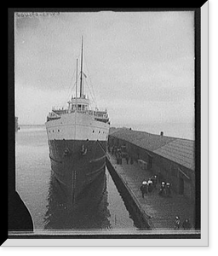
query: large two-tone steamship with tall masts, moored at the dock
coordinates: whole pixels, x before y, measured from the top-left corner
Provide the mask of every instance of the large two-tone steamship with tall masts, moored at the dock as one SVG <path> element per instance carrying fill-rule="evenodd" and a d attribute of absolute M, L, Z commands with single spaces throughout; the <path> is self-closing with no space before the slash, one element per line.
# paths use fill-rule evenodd
<path fill-rule="evenodd" d="M 101 183 L 105 182 L 110 126 L 107 110 L 90 108 L 89 97 L 84 95 L 83 38 L 80 62 L 75 96 L 67 102 L 68 108 L 52 108 L 45 123 L 51 169 L 66 197 L 75 205 L 85 200 L 92 183 L 97 181 L 99 187 L 105 187 Z"/>

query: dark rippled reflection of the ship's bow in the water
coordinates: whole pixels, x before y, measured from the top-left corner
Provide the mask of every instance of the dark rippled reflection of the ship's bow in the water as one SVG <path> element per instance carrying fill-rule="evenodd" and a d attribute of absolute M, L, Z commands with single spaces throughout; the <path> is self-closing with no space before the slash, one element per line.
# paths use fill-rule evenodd
<path fill-rule="evenodd" d="M 51 172 L 44 229 L 102 230 L 111 229 L 106 190 L 106 173 L 101 172 L 89 183 L 79 200 L 72 205 Z"/>

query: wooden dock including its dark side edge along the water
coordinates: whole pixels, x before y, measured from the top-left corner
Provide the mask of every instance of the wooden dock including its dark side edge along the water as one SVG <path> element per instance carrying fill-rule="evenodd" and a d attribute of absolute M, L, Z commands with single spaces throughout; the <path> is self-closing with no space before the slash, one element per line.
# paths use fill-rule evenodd
<path fill-rule="evenodd" d="M 158 195 L 160 189 L 158 183 L 157 189 L 142 197 L 141 183 L 152 177 L 152 172 L 141 168 L 138 162 L 127 164 L 123 159 L 122 164 L 117 164 L 115 156 L 107 153 L 106 166 L 118 189 L 124 190 L 124 200 L 135 211 L 141 222 L 141 229 L 174 230 L 176 216 L 180 217 L 181 224 L 185 218 L 189 218 L 192 229 L 194 228 L 195 205 L 184 195 L 178 195 L 172 190 L 169 197 L 162 197 Z"/>

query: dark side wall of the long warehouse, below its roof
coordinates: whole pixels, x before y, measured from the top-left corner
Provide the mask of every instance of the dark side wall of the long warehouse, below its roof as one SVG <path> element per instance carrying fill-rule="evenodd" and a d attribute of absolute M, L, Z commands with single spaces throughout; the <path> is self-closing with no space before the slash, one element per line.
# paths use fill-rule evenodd
<path fill-rule="evenodd" d="M 125 145 L 127 152 L 135 161 L 146 161 L 147 168 L 152 174 L 162 176 L 176 193 L 186 196 L 190 201 L 195 200 L 195 175 L 192 170 L 117 137 L 109 136 L 108 144 L 118 147 Z"/>

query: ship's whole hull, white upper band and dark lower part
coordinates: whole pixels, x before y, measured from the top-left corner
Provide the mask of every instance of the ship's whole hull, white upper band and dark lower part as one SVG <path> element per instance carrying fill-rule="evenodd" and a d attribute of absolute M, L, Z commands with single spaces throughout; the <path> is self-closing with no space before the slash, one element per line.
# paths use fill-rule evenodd
<path fill-rule="evenodd" d="M 97 182 L 102 193 L 105 187 L 102 184 L 109 125 L 82 114 L 69 114 L 64 119 L 49 121 L 46 128 L 51 169 L 68 204 L 81 211 L 85 201 L 91 200 L 91 184 Z M 95 194 L 95 201 L 100 201 L 101 192 Z"/>

